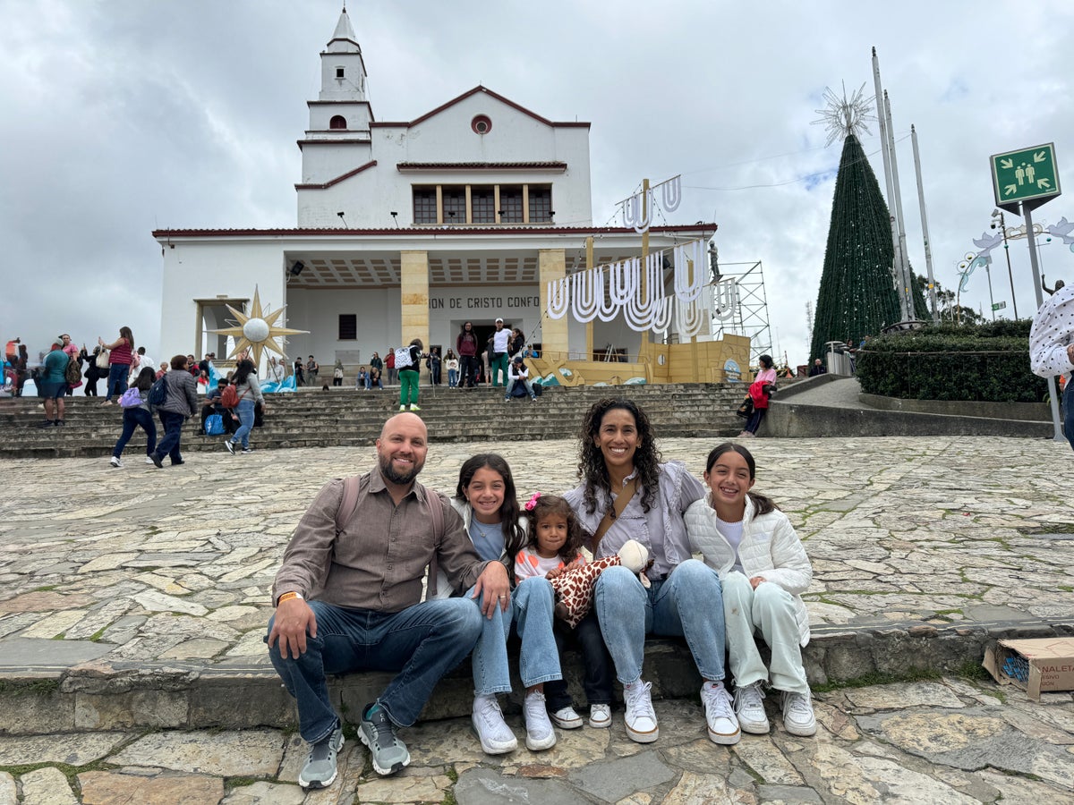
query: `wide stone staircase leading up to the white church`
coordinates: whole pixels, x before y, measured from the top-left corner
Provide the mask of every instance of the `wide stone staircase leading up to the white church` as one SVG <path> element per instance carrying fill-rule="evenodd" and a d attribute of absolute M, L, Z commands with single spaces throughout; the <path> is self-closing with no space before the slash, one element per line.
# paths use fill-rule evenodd
<path fill-rule="evenodd" d="M 571 439 L 585 411 L 603 397 L 629 397 L 648 413 L 662 437 L 728 437 L 742 422 L 735 415 L 741 383 L 550 387 L 531 402 L 504 402 L 502 390 L 431 386 L 421 389 L 421 416 L 436 441 L 518 441 Z M 257 450 L 315 447 L 365 447 L 380 435 L 386 419 L 398 410 L 397 389 L 300 390 L 266 397 L 264 426 L 253 431 Z M 37 427 L 44 421 L 37 398 L 0 399 L 0 456 L 50 458 L 103 456 L 121 430 L 121 410 L 99 398 L 69 397 L 63 427 Z M 199 418 L 184 426 L 184 452 L 218 451 L 222 436 L 199 434 Z M 158 433 L 159 436 L 159 433 Z M 145 444 L 135 433 L 128 451 Z"/>

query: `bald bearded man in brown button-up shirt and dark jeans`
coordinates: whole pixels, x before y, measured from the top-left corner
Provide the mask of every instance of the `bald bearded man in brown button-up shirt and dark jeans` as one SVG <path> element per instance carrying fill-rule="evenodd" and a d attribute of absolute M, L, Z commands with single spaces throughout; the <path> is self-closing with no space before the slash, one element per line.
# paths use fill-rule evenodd
<path fill-rule="evenodd" d="M 426 452 L 420 416 L 388 420 L 377 466 L 358 479 L 357 497 L 344 481 L 330 481 L 299 522 L 276 574 L 268 655 L 310 745 L 299 775 L 303 788 L 332 784 L 343 746 L 326 674 L 400 671 L 359 722 L 373 767 L 395 774 L 410 762 L 395 728 L 418 720 L 436 683 L 470 653 L 482 615 L 508 600 L 504 566 L 481 561 L 448 499 L 416 481 Z M 474 597 L 419 603 L 434 560 L 453 588 L 476 585 Z M 482 591 L 484 612 L 477 604 Z"/>

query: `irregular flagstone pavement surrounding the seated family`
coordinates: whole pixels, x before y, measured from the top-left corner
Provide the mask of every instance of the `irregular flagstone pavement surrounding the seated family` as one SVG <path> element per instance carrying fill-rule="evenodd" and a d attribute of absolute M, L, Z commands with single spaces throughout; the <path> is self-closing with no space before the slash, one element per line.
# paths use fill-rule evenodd
<path fill-rule="evenodd" d="M 661 447 L 700 475 L 714 443 Z M 1074 802 L 1071 694 L 1035 703 L 954 673 L 978 664 L 990 636 L 1074 632 L 1069 447 L 749 447 L 756 488 L 813 560 L 811 682 L 929 678 L 819 692 L 810 740 L 788 736 L 770 700 L 772 734 L 731 749 L 705 738 L 696 694 L 670 683 L 665 694 L 679 698 L 657 701 L 662 737 L 644 747 L 616 713 L 612 730 L 561 732 L 550 752 L 485 758 L 468 719 L 448 712 L 404 731 L 413 762 L 402 777 L 377 779 L 351 741 L 336 786 L 305 799 L 293 785 L 305 749 L 284 727 L 293 714 L 261 642 L 268 588 L 317 488 L 367 469 L 372 449 L 192 454 L 164 470 L 131 451 L 124 470 L 0 460 L 0 803 Z M 422 480 L 450 492 L 462 460 L 487 450 L 508 458 L 520 496 L 574 483 L 572 440 L 436 444 L 435 434 Z M 228 706 L 273 729 L 191 729 L 227 727 L 213 714 Z"/>

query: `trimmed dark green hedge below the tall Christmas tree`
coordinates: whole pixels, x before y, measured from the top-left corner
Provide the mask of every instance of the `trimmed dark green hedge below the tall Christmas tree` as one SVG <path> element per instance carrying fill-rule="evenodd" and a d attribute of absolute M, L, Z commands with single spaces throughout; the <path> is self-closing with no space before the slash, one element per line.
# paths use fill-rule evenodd
<path fill-rule="evenodd" d="M 870 338 L 858 352 L 861 391 L 903 399 L 1041 402 L 1047 383 L 1029 370 L 1032 322 L 930 324 Z"/>

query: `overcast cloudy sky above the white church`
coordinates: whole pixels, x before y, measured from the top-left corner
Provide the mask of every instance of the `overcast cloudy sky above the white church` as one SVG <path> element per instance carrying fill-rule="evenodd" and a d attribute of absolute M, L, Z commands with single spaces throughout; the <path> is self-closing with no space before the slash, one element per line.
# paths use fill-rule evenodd
<path fill-rule="evenodd" d="M 295 224 L 295 141 L 339 11 L 339 0 L 0 0 L 3 340 L 21 336 L 34 355 L 60 332 L 92 345 L 129 324 L 150 354 L 175 351 L 159 342 L 150 232 Z M 1070 2 L 351 0 L 348 14 L 378 120 L 413 119 L 483 84 L 547 118 L 591 121 L 595 225 L 616 223 L 615 203 L 643 177 L 682 174 L 668 222 L 714 221 L 722 263 L 761 262 L 773 349 L 792 364 L 808 356 L 806 303 L 842 147 L 825 147 L 811 121 L 826 87 L 873 94 L 872 46 L 916 272 L 911 123 L 944 287 L 957 288 L 958 262 L 988 229 L 989 155 L 1054 142 L 1060 176 L 1074 165 Z M 883 182 L 871 132 L 862 145 Z M 1035 221 L 1074 219 L 1068 182 Z M 1065 247 L 1041 251 L 1049 284 L 1074 280 Z M 1025 318 L 1035 309 L 1026 241 L 1011 255 Z M 992 292 L 1010 314 L 995 258 Z M 962 298 L 988 313 L 986 277 Z"/>

